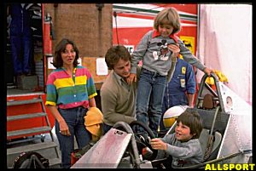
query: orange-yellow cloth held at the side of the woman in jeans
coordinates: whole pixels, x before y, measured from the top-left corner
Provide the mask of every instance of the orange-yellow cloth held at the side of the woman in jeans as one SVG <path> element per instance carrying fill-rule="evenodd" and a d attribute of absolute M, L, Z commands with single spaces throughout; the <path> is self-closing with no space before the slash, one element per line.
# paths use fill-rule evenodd
<path fill-rule="evenodd" d="M 86 116 L 84 116 L 85 128 L 90 132 L 90 134 L 96 137 L 101 137 L 102 123 L 102 111 L 100 111 L 97 107 L 90 107 L 89 111 L 86 113 Z"/>

